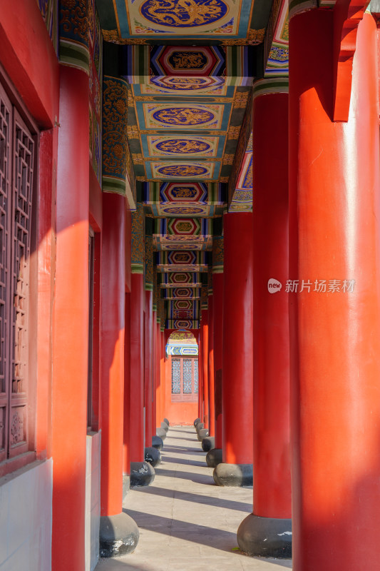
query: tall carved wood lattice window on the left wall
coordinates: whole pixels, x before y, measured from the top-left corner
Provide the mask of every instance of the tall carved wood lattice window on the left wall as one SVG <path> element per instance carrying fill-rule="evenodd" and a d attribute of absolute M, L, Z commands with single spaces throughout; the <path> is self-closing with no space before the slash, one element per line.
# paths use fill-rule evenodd
<path fill-rule="evenodd" d="M 29 261 L 35 141 L 0 86 L 0 461 L 29 450 Z"/>

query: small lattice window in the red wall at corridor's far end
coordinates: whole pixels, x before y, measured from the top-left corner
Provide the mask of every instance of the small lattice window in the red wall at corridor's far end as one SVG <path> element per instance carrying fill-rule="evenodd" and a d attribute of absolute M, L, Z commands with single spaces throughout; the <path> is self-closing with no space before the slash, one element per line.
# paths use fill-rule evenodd
<path fill-rule="evenodd" d="M 172 401 L 196 402 L 198 392 L 198 360 L 172 357 Z"/>

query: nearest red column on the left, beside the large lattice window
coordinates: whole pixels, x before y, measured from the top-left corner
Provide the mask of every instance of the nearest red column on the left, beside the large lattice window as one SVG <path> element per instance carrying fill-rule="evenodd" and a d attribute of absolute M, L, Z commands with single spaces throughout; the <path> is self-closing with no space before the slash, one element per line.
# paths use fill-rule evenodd
<path fill-rule="evenodd" d="M 88 76 L 61 66 L 51 452 L 52 566 L 84 569 L 88 374 Z"/>

